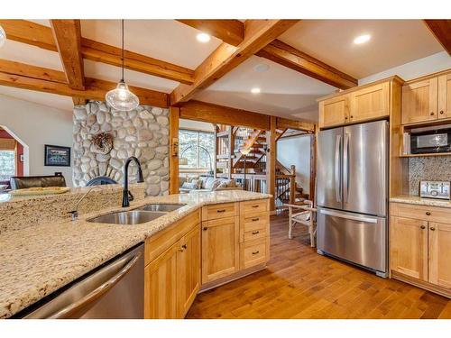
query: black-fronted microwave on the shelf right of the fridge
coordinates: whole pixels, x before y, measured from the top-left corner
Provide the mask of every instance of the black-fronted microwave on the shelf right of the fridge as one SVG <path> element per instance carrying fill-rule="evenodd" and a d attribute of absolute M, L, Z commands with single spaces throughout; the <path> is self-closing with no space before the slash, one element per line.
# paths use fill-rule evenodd
<path fill-rule="evenodd" d="M 412 154 L 451 151 L 451 128 L 410 134 Z"/>

